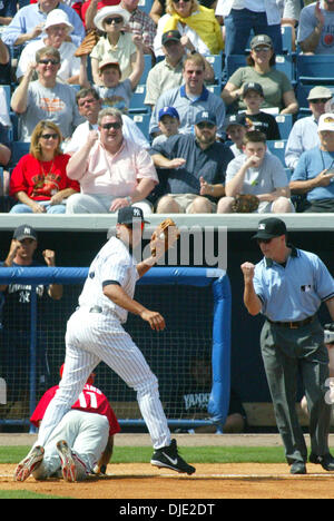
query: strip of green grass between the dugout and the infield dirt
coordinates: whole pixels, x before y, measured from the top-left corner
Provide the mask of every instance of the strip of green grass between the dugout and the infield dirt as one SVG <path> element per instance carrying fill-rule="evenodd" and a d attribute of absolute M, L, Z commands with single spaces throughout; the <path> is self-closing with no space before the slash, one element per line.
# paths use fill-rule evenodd
<path fill-rule="evenodd" d="M 0 446 L 0 463 L 18 463 L 29 446 Z M 283 463 L 281 446 L 184 446 L 180 454 L 191 463 Z M 112 463 L 148 463 L 150 446 L 116 446 Z"/>

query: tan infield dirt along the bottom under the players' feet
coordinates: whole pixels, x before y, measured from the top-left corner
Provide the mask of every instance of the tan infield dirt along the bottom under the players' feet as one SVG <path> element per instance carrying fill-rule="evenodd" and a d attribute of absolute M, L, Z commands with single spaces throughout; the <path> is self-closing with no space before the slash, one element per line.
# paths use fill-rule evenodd
<path fill-rule="evenodd" d="M 0 490 L 28 490 L 75 499 L 333 499 L 334 474 L 308 465 L 306 476 L 292 476 L 285 464 L 198 464 L 191 476 L 149 464 L 109 465 L 102 479 L 12 481 L 14 465 L 0 465 Z"/>

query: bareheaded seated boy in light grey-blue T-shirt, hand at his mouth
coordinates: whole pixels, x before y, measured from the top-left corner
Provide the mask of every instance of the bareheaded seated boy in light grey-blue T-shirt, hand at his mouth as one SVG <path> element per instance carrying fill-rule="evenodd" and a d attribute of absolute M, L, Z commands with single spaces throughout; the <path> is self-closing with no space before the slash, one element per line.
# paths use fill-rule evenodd
<path fill-rule="evenodd" d="M 254 213 L 285 214 L 294 212 L 289 199 L 288 179 L 279 159 L 269 154 L 266 135 L 250 130 L 244 137 L 244 154 L 227 167 L 225 193 L 217 213 L 229 214 L 238 194 L 257 196 L 259 205 Z"/>

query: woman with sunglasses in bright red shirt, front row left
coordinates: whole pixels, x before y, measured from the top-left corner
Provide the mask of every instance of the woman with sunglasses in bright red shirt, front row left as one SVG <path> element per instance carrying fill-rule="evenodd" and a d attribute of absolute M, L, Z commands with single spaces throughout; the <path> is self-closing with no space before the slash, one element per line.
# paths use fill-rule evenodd
<path fill-rule="evenodd" d="M 11 214 L 65 214 L 66 199 L 80 191 L 67 177 L 70 158 L 60 149 L 61 134 L 52 121 L 40 121 L 31 136 L 30 151 L 14 167 L 10 196 L 18 199 Z"/>

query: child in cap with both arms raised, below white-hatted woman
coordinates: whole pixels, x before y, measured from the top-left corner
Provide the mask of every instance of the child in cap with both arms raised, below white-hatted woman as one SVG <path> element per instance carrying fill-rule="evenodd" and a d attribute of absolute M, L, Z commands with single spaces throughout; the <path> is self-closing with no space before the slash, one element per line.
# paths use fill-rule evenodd
<path fill-rule="evenodd" d="M 115 107 L 122 112 L 128 111 L 132 94 L 144 71 L 143 40 L 137 35 L 134 36 L 132 40 L 137 48 L 137 57 L 130 76 L 120 81 L 121 70 L 119 63 L 107 58 L 99 65 L 99 85 L 92 85 L 102 99 L 104 107 Z M 79 83 L 81 88 L 91 87 L 87 76 L 87 55 L 81 56 Z"/>

